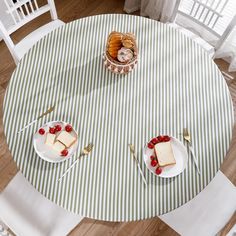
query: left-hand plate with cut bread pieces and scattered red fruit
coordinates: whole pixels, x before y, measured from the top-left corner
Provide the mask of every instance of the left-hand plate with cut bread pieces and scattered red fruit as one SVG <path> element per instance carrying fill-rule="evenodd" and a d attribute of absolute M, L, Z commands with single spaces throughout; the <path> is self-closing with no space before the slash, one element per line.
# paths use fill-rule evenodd
<path fill-rule="evenodd" d="M 36 131 L 33 144 L 36 153 L 45 161 L 61 162 L 77 150 L 78 135 L 70 124 L 51 121 Z"/>

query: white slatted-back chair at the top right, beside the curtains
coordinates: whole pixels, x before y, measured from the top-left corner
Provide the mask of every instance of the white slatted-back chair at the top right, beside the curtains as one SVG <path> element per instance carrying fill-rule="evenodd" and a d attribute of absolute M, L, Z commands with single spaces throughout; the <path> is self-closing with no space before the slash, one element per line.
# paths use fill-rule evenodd
<path fill-rule="evenodd" d="M 229 3 L 229 0 L 176 0 L 170 25 L 192 38 L 213 57 L 236 25 L 236 10 L 232 9 L 231 17 L 223 15 L 226 7 L 231 7 Z M 236 5 L 234 7 L 236 9 Z"/>

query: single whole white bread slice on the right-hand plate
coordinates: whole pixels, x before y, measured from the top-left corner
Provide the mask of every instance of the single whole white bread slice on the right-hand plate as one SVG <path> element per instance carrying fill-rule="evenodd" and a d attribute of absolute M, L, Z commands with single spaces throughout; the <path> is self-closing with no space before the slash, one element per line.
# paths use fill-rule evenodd
<path fill-rule="evenodd" d="M 163 142 L 156 144 L 155 153 L 157 156 L 159 166 L 163 167 L 176 164 L 170 142 Z"/>

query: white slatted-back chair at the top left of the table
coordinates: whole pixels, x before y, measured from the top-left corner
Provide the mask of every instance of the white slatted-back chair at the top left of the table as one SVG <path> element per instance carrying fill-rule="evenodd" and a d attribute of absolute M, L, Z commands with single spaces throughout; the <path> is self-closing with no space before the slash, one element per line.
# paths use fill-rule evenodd
<path fill-rule="evenodd" d="M 58 20 L 53 0 L 48 0 L 48 4 L 40 7 L 37 0 L 17 0 L 16 3 L 13 3 L 12 0 L 4 0 L 4 3 L 7 8 L 6 13 L 9 14 L 12 19 L 12 24 L 10 27 L 7 27 L 4 26 L 3 22 L 0 20 L 0 37 L 5 41 L 16 64 L 37 41 L 51 31 L 65 24 L 61 20 Z M 51 22 L 33 31 L 19 43 L 13 43 L 10 38 L 10 35 L 13 32 L 36 17 L 49 11 L 52 18 Z"/>

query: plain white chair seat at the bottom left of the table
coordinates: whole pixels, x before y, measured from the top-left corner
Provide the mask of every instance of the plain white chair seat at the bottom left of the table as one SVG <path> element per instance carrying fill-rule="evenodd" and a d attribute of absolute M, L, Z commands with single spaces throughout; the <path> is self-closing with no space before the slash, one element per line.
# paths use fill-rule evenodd
<path fill-rule="evenodd" d="M 0 194 L 0 222 L 17 236 L 65 236 L 82 219 L 46 199 L 20 172 Z"/>

